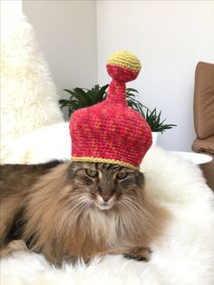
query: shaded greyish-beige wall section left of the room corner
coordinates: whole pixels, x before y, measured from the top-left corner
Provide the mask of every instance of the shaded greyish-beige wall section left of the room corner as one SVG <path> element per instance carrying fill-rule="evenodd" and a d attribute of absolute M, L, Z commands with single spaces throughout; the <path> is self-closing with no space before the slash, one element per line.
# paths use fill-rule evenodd
<path fill-rule="evenodd" d="M 62 98 L 63 88 L 97 84 L 95 1 L 24 0 L 23 11 Z"/>

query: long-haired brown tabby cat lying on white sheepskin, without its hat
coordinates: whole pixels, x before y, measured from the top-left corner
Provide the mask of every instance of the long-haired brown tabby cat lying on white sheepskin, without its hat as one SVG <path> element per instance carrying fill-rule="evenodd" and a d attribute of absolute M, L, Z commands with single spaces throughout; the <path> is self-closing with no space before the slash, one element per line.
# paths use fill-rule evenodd
<path fill-rule="evenodd" d="M 0 257 L 42 252 L 57 267 L 105 254 L 149 260 L 169 219 L 147 197 L 143 173 L 116 164 L 5 164 L 0 172 Z"/>

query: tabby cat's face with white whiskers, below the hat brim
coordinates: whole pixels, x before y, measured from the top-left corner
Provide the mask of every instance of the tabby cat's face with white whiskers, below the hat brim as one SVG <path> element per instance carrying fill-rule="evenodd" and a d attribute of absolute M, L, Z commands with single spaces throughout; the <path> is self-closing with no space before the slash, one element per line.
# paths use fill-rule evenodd
<path fill-rule="evenodd" d="M 73 192 L 83 197 L 80 199 L 83 204 L 101 210 L 120 206 L 122 202 L 128 205 L 144 184 L 141 172 L 102 162 L 72 162 L 68 179 L 73 184 Z"/>

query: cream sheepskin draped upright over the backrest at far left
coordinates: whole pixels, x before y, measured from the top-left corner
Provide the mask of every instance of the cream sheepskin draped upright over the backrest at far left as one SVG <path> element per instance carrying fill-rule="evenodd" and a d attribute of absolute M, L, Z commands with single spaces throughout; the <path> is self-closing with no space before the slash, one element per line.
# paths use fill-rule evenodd
<path fill-rule="evenodd" d="M 1 161 L 10 143 L 44 125 L 63 122 L 58 95 L 24 15 L 1 9 Z"/>

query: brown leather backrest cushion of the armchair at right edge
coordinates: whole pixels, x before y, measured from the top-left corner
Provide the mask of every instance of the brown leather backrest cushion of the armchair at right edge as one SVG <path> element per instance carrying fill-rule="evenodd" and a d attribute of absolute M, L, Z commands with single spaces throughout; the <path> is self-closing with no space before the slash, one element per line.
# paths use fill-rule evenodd
<path fill-rule="evenodd" d="M 214 64 L 199 62 L 195 74 L 194 124 L 199 139 L 214 135 Z"/>

